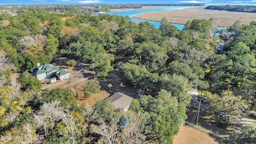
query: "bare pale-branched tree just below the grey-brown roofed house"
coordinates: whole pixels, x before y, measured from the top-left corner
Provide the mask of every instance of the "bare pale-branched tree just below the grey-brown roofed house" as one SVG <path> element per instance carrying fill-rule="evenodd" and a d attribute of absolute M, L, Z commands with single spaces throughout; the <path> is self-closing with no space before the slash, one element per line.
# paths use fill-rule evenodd
<path fill-rule="evenodd" d="M 100 119 L 99 126 L 92 125 L 92 132 L 100 134 L 102 137 L 98 141 L 100 144 L 142 144 L 145 138 L 141 134 L 142 123 L 132 111 L 122 112 L 122 114 L 112 117 L 106 123 Z"/>

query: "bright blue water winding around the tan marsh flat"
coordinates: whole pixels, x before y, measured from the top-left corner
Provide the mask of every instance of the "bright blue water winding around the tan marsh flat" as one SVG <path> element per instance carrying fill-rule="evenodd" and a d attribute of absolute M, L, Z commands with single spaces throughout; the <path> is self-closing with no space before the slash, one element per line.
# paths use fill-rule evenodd
<path fill-rule="evenodd" d="M 151 20 L 141 20 L 138 18 L 133 18 L 132 16 L 137 15 L 137 14 L 142 14 L 142 13 L 146 13 L 146 12 L 160 12 L 160 11 L 166 11 L 166 10 L 179 10 L 179 9 L 184 9 L 184 8 L 192 8 L 192 7 L 198 7 L 198 6 L 166 6 L 166 7 L 162 7 L 162 8 L 154 8 L 154 9 L 146 9 L 146 10 L 129 10 L 129 11 L 120 11 L 120 12 L 108 12 L 106 14 L 116 14 L 118 16 L 129 16 L 131 18 L 132 21 L 134 22 L 149 22 L 150 24 L 153 24 L 155 26 L 155 28 L 159 28 L 160 27 L 160 22 L 155 22 L 155 21 L 151 21 Z M 172 24 L 172 23 L 169 23 Z M 178 30 L 182 30 L 184 28 L 184 24 L 172 24 L 174 26 L 176 26 L 176 28 Z M 218 29 L 226 29 L 226 27 L 217 27 Z"/>

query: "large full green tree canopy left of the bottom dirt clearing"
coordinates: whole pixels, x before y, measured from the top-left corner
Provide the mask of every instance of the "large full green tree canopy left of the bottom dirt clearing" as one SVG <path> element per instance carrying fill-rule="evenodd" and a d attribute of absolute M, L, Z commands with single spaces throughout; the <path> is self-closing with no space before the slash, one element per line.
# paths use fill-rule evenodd
<path fill-rule="evenodd" d="M 186 117 L 186 106 L 166 90 L 161 90 L 157 96 L 144 96 L 133 100 L 130 109 L 144 120 L 142 133 L 151 142 L 172 143 L 178 133 L 179 125 Z M 145 120 L 145 118 L 147 120 Z"/>

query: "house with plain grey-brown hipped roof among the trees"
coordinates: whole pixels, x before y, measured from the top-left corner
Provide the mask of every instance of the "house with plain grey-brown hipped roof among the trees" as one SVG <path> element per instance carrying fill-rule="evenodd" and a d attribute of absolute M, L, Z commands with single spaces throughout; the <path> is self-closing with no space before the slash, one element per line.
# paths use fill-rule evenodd
<path fill-rule="evenodd" d="M 105 99 L 107 102 L 110 101 L 115 107 L 115 110 L 127 111 L 133 100 L 130 96 L 117 92 L 116 94 Z"/>

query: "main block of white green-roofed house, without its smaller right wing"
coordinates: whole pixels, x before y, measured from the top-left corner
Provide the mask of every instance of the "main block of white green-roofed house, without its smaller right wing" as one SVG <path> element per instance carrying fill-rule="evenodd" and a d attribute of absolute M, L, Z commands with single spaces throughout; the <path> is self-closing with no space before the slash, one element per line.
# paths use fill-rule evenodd
<path fill-rule="evenodd" d="M 52 64 L 41 64 L 38 63 L 36 68 L 30 69 L 33 76 L 36 76 L 38 80 L 43 80 L 45 78 L 51 78 L 58 68 Z"/>

